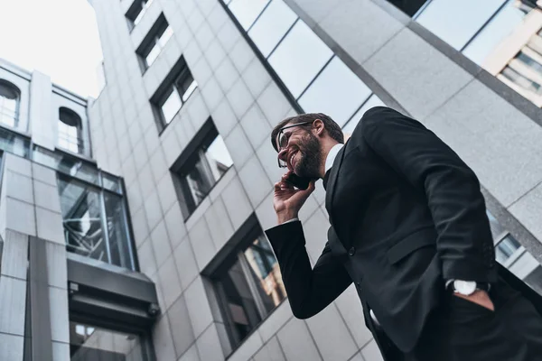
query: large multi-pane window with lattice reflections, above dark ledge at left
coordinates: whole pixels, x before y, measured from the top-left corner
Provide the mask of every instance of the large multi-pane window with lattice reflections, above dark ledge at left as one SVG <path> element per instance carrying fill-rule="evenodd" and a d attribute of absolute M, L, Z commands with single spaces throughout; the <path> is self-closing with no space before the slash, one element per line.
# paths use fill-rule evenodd
<path fill-rule="evenodd" d="M 113 176 L 107 178 L 111 181 Z M 57 172 L 57 181 L 67 250 L 134 270 L 126 204 L 119 191 L 77 180 L 63 171 Z"/>

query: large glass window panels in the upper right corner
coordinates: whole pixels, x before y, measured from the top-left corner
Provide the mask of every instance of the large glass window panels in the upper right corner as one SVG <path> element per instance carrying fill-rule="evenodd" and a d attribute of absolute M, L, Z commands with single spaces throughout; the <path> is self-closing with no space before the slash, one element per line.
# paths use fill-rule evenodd
<path fill-rule="evenodd" d="M 428 0 L 415 19 L 523 97 L 542 106 L 542 8 L 535 2 Z"/>

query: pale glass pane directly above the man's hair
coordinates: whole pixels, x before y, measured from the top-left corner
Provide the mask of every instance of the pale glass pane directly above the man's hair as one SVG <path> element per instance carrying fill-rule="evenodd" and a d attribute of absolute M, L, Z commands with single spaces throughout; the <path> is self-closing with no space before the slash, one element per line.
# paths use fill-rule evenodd
<path fill-rule="evenodd" d="M 305 112 L 324 113 L 342 126 L 369 96 L 370 89 L 335 57 L 299 99 L 299 104 Z"/>

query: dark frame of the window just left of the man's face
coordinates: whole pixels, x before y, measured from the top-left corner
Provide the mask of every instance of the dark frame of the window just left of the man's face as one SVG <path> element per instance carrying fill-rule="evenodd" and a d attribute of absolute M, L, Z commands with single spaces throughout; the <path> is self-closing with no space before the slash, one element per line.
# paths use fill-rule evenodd
<path fill-rule="evenodd" d="M 200 131 L 192 138 L 192 141 L 184 148 L 179 158 L 173 163 L 170 169 L 173 175 L 173 184 L 177 192 L 177 198 L 181 205 L 182 216 L 184 222 L 186 222 L 195 210 L 201 205 L 201 203 L 209 196 L 209 193 L 220 182 L 222 177 L 228 173 L 229 169 L 233 166 L 229 166 L 228 170 L 225 170 L 218 180 L 204 180 L 206 182 L 207 191 L 201 202 L 196 203 L 192 196 L 192 190 L 186 179 L 188 174 L 193 170 L 197 162 L 202 160 L 207 162 L 202 156 L 202 152 L 207 150 L 211 143 L 219 136 L 219 131 L 209 118 L 204 125 L 201 126 Z"/>

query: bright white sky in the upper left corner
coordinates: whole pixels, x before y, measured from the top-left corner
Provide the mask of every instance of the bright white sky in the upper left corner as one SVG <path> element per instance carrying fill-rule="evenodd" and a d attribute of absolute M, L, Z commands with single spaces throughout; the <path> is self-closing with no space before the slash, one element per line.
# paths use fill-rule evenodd
<path fill-rule="evenodd" d="M 102 60 L 87 0 L 0 0 L 0 58 L 82 97 L 98 97 Z"/>

